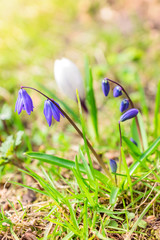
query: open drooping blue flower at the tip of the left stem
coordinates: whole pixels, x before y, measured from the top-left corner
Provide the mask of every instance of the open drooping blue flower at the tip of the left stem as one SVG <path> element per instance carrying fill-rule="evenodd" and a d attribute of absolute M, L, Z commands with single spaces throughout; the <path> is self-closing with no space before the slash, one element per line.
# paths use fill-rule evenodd
<path fill-rule="evenodd" d="M 29 94 L 24 89 L 20 89 L 18 92 L 18 98 L 15 106 L 15 112 L 17 111 L 18 114 L 22 112 L 22 110 L 26 110 L 28 115 L 33 112 L 33 102 Z"/>

